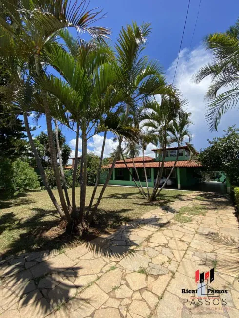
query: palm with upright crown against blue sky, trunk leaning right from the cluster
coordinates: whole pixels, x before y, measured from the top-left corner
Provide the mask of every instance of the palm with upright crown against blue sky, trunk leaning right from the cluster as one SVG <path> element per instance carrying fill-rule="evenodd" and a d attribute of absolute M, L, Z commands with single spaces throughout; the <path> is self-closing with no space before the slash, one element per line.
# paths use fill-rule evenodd
<path fill-rule="evenodd" d="M 172 94 L 171 87 L 165 84 L 165 77 L 159 64 L 149 61 L 148 56 L 142 55 L 142 51 L 145 49 L 145 42 L 150 32 L 150 24 L 143 23 L 139 26 L 133 23 L 121 29 L 117 40 L 116 59 L 119 66 L 118 86 L 124 89 L 127 94 L 125 99 L 126 110 L 122 116 L 122 122 L 126 124 L 130 113 L 137 111 L 143 100 L 155 94 Z M 118 159 L 121 144 L 122 138 L 119 139 L 116 156 L 109 169 L 97 203 L 94 206 L 95 210 L 99 206 L 103 193 L 109 183 L 115 163 Z"/>

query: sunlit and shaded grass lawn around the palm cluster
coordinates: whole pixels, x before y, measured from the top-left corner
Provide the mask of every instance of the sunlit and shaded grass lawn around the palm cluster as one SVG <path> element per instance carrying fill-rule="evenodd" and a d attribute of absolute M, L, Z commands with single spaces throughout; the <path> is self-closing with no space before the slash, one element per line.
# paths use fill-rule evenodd
<path fill-rule="evenodd" d="M 96 197 L 101 187 L 98 188 Z M 89 203 L 93 187 L 87 187 L 86 204 Z M 57 191 L 53 191 L 58 198 Z M 130 187 L 107 187 L 96 217 L 97 228 L 92 232 L 107 232 L 138 218 L 160 205 L 167 205 L 189 192 L 163 190 L 159 203 L 149 204 L 138 189 Z M 80 199 L 80 188 L 76 188 L 76 201 Z M 71 189 L 69 189 L 71 196 Z M 59 200 L 60 201 L 60 200 Z M 46 191 L 18 194 L 13 198 L 0 197 L 0 253 L 16 253 L 38 249 L 62 248 L 65 243 L 78 243 L 76 238 L 65 235 L 62 222 Z"/>

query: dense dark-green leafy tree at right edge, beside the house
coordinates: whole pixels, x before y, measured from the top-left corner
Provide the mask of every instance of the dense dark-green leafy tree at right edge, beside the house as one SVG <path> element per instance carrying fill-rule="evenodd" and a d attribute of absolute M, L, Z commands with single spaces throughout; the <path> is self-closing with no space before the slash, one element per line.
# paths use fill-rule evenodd
<path fill-rule="evenodd" d="M 223 171 L 231 184 L 239 185 L 239 129 L 234 125 L 223 131 L 222 137 L 208 139 L 198 160 L 207 171 Z"/>

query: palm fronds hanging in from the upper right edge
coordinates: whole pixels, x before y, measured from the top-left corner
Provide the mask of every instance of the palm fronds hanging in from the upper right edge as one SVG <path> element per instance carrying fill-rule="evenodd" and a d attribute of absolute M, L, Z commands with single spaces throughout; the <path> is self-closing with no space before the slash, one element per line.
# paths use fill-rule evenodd
<path fill-rule="evenodd" d="M 208 35 L 205 46 L 212 52 L 213 61 L 203 66 L 193 78 L 196 83 L 208 76 L 212 79 L 205 96 L 210 102 L 206 119 L 210 131 L 217 131 L 221 117 L 239 101 L 239 19 L 226 32 Z M 218 94 L 220 89 L 225 91 Z"/>

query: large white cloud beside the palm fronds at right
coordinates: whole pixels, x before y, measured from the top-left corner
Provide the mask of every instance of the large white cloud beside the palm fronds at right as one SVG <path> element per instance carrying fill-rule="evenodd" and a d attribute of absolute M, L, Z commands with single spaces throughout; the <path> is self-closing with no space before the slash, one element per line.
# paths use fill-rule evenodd
<path fill-rule="evenodd" d="M 207 139 L 212 139 L 214 136 L 221 136 L 222 129 L 226 129 L 236 123 L 235 118 L 238 118 L 236 110 L 229 111 L 223 116 L 219 124 L 219 132 L 214 131 L 211 133 L 208 130 L 207 122 L 205 119 L 206 102 L 204 100 L 208 86 L 211 83 L 210 78 L 205 78 L 200 84 L 195 84 L 192 81 L 192 76 L 199 70 L 200 67 L 207 64 L 212 60 L 209 51 L 206 51 L 203 46 L 198 46 L 192 51 L 184 48 L 179 56 L 179 63 L 177 73 L 175 76 L 174 85 L 176 85 L 189 102 L 187 106 L 188 111 L 192 113 L 193 126 L 190 131 L 193 134 L 194 146 L 199 150 L 200 148 L 207 147 Z M 172 62 L 167 70 L 168 81 L 172 83 L 175 72 L 177 58 Z"/>

